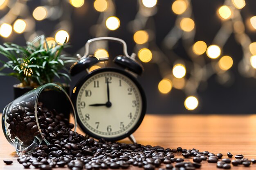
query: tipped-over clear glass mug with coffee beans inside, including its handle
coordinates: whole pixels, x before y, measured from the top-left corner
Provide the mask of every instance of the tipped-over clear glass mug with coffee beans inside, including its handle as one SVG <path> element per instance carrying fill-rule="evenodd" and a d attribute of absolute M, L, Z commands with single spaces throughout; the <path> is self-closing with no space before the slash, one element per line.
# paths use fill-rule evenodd
<path fill-rule="evenodd" d="M 4 107 L 2 129 L 19 156 L 31 154 L 43 141 L 50 144 L 54 135 L 61 135 L 58 127 L 65 125 L 76 130 L 74 113 L 74 106 L 65 90 L 48 83 Z"/>

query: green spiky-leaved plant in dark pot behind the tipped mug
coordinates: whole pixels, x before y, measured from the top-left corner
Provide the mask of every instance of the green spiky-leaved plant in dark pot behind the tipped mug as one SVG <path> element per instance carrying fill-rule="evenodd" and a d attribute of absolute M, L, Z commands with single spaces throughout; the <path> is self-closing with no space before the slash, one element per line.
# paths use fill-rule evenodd
<path fill-rule="evenodd" d="M 9 42 L 0 45 L 0 54 L 8 58 L 7 62 L 0 60 L 3 64 L 0 67 L 0 76 L 13 76 L 20 81 L 19 84 L 13 85 L 14 98 L 40 85 L 52 83 L 54 77 L 70 81 L 69 71 L 65 66 L 73 64 L 77 59 L 62 54 L 64 47 L 67 47 L 66 43 L 56 43 L 49 47 L 44 35 L 27 42 L 26 47 Z M 12 69 L 13 72 L 3 73 L 5 68 Z M 62 70 L 64 72 L 61 72 Z M 67 84 L 59 85 L 69 89 Z"/>

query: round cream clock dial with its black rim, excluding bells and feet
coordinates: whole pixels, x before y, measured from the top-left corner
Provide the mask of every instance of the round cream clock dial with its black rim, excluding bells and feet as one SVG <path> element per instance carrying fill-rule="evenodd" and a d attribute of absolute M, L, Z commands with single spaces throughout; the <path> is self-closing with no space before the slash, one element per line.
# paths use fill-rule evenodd
<path fill-rule="evenodd" d="M 95 138 L 118 140 L 134 132 L 145 114 L 145 96 L 123 70 L 98 69 L 86 76 L 76 96 L 78 123 Z"/>

